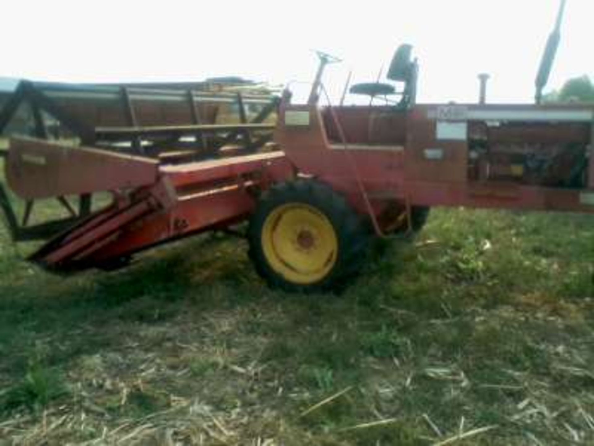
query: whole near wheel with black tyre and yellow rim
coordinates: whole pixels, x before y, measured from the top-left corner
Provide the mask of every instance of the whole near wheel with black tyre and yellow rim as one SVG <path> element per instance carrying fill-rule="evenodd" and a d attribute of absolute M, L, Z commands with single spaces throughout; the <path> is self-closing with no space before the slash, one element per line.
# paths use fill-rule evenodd
<path fill-rule="evenodd" d="M 261 196 L 248 238 L 249 255 L 268 284 L 308 293 L 336 290 L 358 272 L 369 231 L 330 187 L 297 180 Z"/>

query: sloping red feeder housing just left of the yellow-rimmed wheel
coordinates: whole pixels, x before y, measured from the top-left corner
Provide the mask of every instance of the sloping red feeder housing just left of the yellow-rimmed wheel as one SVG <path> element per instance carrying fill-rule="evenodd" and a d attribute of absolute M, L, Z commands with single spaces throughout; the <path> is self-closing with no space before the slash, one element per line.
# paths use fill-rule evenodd
<path fill-rule="evenodd" d="M 113 156 L 109 152 L 106 159 L 113 161 Z M 131 157 L 115 156 L 119 158 Z M 59 174 L 59 169 L 56 172 Z M 52 268 L 86 268 L 176 238 L 225 227 L 253 211 L 255 188 L 266 189 L 270 181 L 289 178 L 293 167 L 282 152 L 275 152 L 162 167 L 154 175 L 157 180 L 153 184 L 141 184 L 144 187 L 119 196 L 110 208 L 50 240 L 30 259 Z M 214 184 L 214 180 L 218 183 Z M 105 177 L 97 181 L 106 183 Z M 188 193 L 193 188 L 196 190 Z"/>

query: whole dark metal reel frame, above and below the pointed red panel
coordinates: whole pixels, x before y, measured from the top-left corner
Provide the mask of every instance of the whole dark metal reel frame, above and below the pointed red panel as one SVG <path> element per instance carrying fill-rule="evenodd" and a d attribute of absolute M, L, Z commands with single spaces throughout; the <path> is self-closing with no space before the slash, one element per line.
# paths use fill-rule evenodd
<path fill-rule="evenodd" d="M 89 123 L 76 116 L 68 109 L 65 100 L 84 100 L 90 105 L 102 103 L 105 100 L 115 100 L 124 125 L 119 127 L 91 127 Z M 183 104 L 187 107 L 188 123 L 184 125 L 161 125 L 159 127 L 140 125 L 138 112 L 143 110 L 141 101 L 161 101 L 165 109 L 167 104 Z M 204 123 L 200 113 L 200 104 L 228 103 L 238 104 L 238 117 L 241 124 L 208 124 Z M 263 104 L 261 112 L 248 122 L 246 103 Z M 240 153 L 254 153 L 256 149 L 266 144 L 272 138 L 273 124 L 263 122 L 276 110 L 279 100 L 274 96 L 245 95 L 244 93 L 213 93 L 198 92 L 194 89 L 180 89 L 178 86 L 166 89 L 166 85 L 159 89 L 149 89 L 129 86 L 78 86 L 57 83 L 33 83 L 21 81 L 15 92 L 10 96 L 4 107 L 0 109 L 0 135 L 4 134 L 8 124 L 22 105 L 29 106 L 33 116 L 34 136 L 48 139 L 49 129 L 43 113 L 48 114 L 59 124 L 64 125 L 72 136 L 77 137 L 82 145 L 101 147 L 107 150 L 124 153 L 136 153 L 153 156 L 162 162 L 198 161 L 216 157 L 222 147 L 241 145 Z M 68 103 L 66 103 L 67 105 Z M 177 105 L 176 105 L 177 106 Z M 179 108 L 179 106 L 178 106 Z M 252 137 L 252 134 L 263 133 L 263 136 Z M 181 141 L 182 137 L 195 136 L 194 142 Z M 149 140 L 149 144 L 143 142 Z M 124 143 L 124 147 L 121 146 Z M 125 145 L 128 145 L 126 147 Z M 175 147 L 175 150 L 171 150 Z M 0 156 L 7 158 L 7 152 L 1 151 Z M 67 170 L 76 172 L 70 166 Z M 100 188 L 98 190 L 101 190 Z M 69 212 L 68 218 L 48 224 L 30 227 L 29 221 L 34 207 L 34 200 L 27 199 L 24 215 L 21 221 L 17 218 L 14 207 L 4 186 L 0 184 L 0 208 L 7 222 L 14 240 L 33 240 L 46 238 L 48 235 L 65 230 L 91 213 L 93 205 L 92 192 L 78 195 L 78 210 L 74 212 L 72 206 L 62 196 L 58 202 Z"/>

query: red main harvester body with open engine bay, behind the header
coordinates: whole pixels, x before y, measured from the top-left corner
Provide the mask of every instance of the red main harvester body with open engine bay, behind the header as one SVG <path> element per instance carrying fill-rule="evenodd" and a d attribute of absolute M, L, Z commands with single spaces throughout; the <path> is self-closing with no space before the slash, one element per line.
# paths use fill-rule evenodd
<path fill-rule="evenodd" d="M 361 211 L 369 212 L 365 202 L 371 202 L 375 216 L 389 203 L 593 213 L 594 156 L 584 153 L 589 174 L 581 186 L 547 183 L 549 177 L 561 183 L 571 167 L 567 147 L 592 153 L 593 122 L 594 109 L 587 106 L 349 106 L 320 112 L 285 100 L 275 139 L 299 171 L 343 191 Z M 487 155 L 479 153 L 482 147 L 490 147 Z M 524 172 L 526 162 L 535 162 L 530 156 L 554 157 L 539 171 L 539 184 Z M 514 161 L 519 157 L 524 164 Z M 505 176 L 514 174 L 522 178 Z"/>

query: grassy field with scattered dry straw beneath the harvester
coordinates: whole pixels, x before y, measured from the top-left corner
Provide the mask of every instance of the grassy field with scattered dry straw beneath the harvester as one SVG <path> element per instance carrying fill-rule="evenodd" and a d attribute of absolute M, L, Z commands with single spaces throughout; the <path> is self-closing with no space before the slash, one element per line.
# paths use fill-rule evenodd
<path fill-rule="evenodd" d="M 69 278 L 22 255 L 0 233 L 0 445 L 594 444 L 592 216 L 438 210 L 341 296 L 219 235 Z"/>

